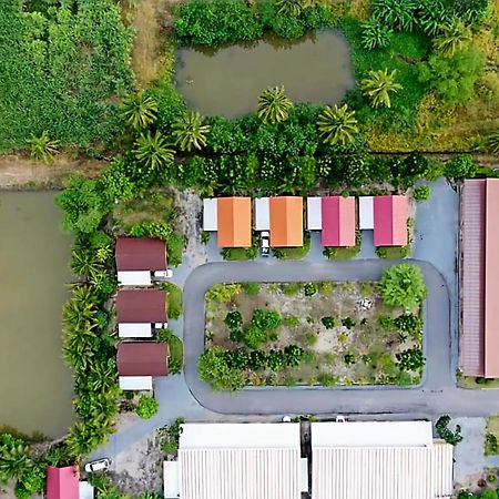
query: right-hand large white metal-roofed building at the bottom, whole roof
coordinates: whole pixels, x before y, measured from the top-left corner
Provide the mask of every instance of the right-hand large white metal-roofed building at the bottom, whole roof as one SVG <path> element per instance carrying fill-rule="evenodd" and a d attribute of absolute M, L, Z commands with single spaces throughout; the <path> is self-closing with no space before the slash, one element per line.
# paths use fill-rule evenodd
<path fill-rule="evenodd" d="M 452 497 L 452 446 L 427 421 L 313 422 L 312 499 Z"/>

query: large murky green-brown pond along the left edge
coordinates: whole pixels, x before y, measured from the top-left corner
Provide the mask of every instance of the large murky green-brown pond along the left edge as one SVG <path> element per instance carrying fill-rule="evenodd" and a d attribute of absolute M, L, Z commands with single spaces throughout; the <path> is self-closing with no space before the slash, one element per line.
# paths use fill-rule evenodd
<path fill-rule="evenodd" d="M 52 192 L 0 192 L 0 426 L 49 437 L 74 420 L 62 359 L 71 238 Z"/>

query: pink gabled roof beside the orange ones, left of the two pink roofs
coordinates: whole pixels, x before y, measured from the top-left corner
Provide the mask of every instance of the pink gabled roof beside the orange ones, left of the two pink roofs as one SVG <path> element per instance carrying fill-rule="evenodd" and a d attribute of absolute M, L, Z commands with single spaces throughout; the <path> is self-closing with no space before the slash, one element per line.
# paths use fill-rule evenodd
<path fill-rule="evenodd" d="M 355 197 L 322 198 L 323 246 L 355 246 Z"/>

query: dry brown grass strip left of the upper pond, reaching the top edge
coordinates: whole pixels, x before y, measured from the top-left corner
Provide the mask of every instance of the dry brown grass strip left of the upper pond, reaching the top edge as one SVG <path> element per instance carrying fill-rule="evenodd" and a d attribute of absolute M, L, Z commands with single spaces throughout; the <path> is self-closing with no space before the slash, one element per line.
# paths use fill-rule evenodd
<path fill-rule="evenodd" d="M 123 19 L 135 30 L 132 68 L 136 86 L 146 89 L 157 77 L 161 67 L 162 31 L 172 26 L 172 10 L 180 0 L 140 0 L 136 7 L 126 3 L 129 2 L 125 2 Z"/>

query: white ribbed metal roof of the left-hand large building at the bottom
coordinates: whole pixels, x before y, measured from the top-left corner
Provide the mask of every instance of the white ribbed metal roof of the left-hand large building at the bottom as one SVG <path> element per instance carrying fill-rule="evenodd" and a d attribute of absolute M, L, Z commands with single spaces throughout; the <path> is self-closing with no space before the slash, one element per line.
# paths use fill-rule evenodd
<path fill-rule="evenodd" d="M 301 499 L 298 424 L 183 425 L 180 497 Z"/>

